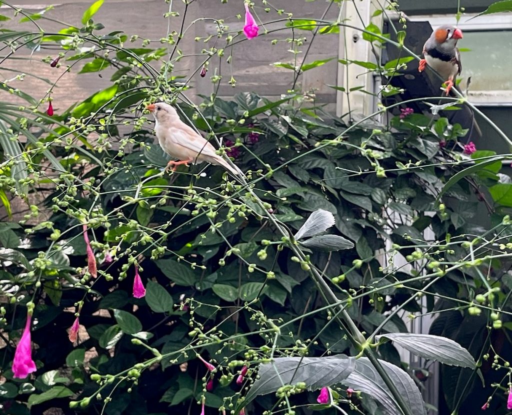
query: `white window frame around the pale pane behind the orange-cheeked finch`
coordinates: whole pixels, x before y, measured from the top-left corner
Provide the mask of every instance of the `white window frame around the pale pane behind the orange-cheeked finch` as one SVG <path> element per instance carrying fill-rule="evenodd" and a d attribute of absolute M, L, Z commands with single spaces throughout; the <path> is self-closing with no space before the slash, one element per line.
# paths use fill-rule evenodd
<path fill-rule="evenodd" d="M 433 29 L 442 25 L 456 25 L 462 31 L 491 31 L 510 30 L 512 31 L 512 13 L 494 13 L 476 17 L 476 13 L 464 14 L 457 21 L 453 15 L 426 14 L 408 16 L 411 21 L 428 21 Z M 476 17 L 476 18 L 474 18 Z M 512 32 L 511 32 L 512 34 Z M 503 51 L 505 53 L 505 51 Z M 464 58 L 464 56 L 462 56 Z M 462 62 L 464 68 L 464 62 Z M 462 72 L 462 76 L 464 72 Z M 512 106 L 512 90 L 471 90 L 467 98 L 478 106 Z"/>

